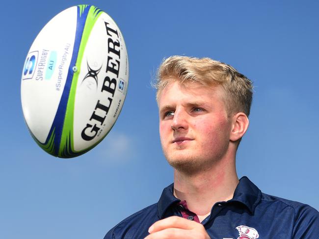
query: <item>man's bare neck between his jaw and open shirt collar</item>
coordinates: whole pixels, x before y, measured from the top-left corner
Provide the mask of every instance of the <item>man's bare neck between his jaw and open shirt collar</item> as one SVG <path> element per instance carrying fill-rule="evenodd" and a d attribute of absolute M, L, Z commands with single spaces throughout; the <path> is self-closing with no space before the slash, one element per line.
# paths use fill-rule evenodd
<path fill-rule="evenodd" d="M 235 159 L 222 159 L 213 167 L 192 175 L 174 170 L 174 195 L 186 200 L 188 209 L 198 215 L 200 221 L 211 213 L 216 202 L 232 199 L 238 183 Z"/>

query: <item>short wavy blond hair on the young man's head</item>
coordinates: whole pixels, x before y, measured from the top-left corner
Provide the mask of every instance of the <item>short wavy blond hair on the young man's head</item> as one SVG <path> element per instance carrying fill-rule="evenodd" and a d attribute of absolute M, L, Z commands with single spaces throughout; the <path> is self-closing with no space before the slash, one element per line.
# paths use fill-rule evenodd
<path fill-rule="evenodd" d="M 243 112 L 249 116 L 253 95 L 252 82 L 233 67 L 210 58 L 171 56 L 160 64 L 154 84 L 157 100 L 166 85 L 177 80 L 182 84 L 197 82 L 203 86 L 221 85 L 225 91 L 228 114 Z"/>

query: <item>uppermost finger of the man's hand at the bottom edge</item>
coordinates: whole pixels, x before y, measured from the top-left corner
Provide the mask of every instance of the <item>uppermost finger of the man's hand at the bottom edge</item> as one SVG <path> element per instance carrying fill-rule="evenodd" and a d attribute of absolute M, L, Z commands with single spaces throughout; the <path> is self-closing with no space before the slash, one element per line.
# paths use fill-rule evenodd
<path fill-rule="evenodd" d="M 149 233 L 154 233 L 161 231 L 166 228 L 179 228 L 191 230 L 197 225 L 200 225 L 198 222 L 187 220 L 180 216 L 170 216 L 165 219 L 155 222 L 148 230 Z"/>

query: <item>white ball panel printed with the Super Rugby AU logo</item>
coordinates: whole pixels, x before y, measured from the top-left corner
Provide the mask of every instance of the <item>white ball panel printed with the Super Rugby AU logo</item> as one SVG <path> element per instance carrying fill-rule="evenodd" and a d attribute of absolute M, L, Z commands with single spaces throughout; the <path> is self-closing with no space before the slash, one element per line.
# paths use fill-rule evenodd
<path fill-rule="evenodd" d="M 29 130 L 41 143 L 48 139 L 62 96 L 73 51 L 76 15 L 76 8 L 56 15 L 40 31 L 26 58 L 21 82 L 22 108 Z M 50 73 L 46 77 L 48 70 L 55 70 L 51 77 Z"/>

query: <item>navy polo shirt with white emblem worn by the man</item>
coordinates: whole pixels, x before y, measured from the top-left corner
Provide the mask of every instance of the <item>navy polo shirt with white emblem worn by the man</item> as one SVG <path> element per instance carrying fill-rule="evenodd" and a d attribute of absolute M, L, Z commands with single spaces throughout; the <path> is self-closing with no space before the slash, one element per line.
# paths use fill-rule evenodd
<path fill-rule="evenodd" d="M 183 216 L 173 186 L 163 190 L 158 203 L 124 219 L 104 239 L 143 239 L 154 222 Z M 317 210 L 262 193 L 247 177 L 239 180 L 233 199 L 215 203 L 201 223 L 212 239 L 319 239 Z"/>

